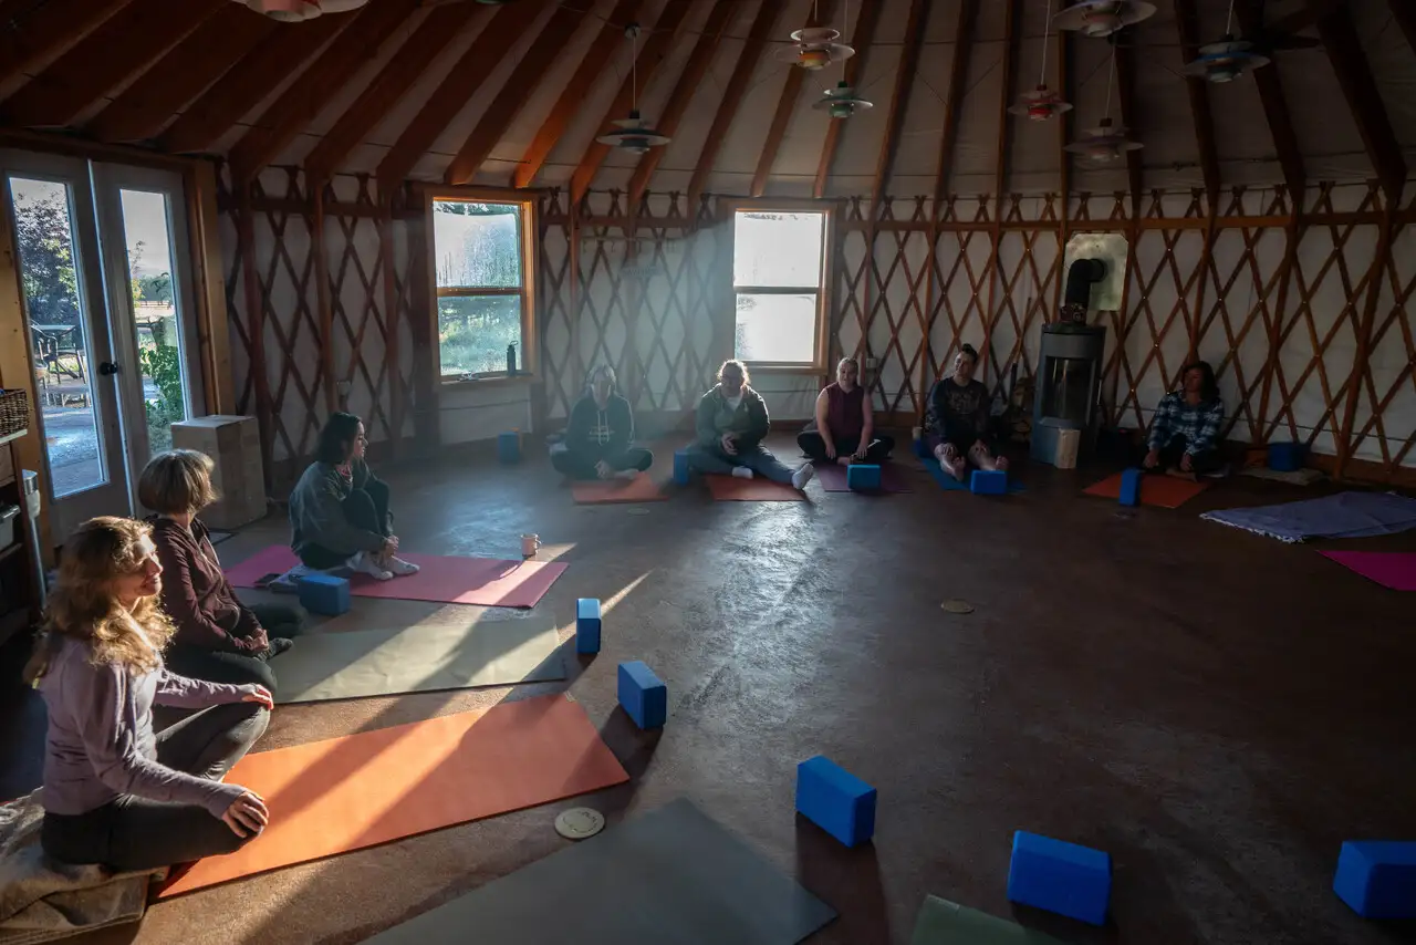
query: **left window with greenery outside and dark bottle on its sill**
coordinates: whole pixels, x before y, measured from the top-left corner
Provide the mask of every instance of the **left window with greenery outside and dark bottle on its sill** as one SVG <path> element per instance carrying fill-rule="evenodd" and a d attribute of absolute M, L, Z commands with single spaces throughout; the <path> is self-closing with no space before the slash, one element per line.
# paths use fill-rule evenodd
<path fill-rule="evenodd" d="M 508 347 L 517 373 L 532 371 L 534 204 L 462 191 L 433 196 L 429 217 L 442 378 L 506 377 Z"/>

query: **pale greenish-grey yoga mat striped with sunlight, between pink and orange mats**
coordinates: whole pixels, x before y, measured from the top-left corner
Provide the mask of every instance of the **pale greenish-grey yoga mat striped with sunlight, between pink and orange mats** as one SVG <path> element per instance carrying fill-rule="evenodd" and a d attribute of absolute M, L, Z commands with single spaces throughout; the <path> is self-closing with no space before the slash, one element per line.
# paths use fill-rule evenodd
<path fill-rule="evenodd" d="M 466 625 L 306 633 L 272 669 L 279 703 L 565 679 L 547 613 Z"/>

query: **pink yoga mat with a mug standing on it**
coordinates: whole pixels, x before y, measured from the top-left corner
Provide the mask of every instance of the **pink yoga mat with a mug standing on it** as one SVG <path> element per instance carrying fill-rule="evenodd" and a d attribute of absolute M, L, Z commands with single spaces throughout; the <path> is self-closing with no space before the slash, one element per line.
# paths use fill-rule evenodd
<path fill-rule="evenodd" d="M 392 581 L 375 581 L 367 574 L 350 578 L 350 592 L 364 598 L 398 601 L 440 601 L 443 604 L 480 604 L 483 606 L 535 606 L 535 602 L 565 571 L 564 564 L 545 561 L 504 561 L 501 558 L 449 558 L 436 554 L 401 554 L 422 568 L 418 574 Z M 299 564 L 295 553 L 282 545 L 256 551 L 241 564 L 227 568 L 227 578 L 238 588 L 253 588 L 266 574 L 285 574 Z"/>

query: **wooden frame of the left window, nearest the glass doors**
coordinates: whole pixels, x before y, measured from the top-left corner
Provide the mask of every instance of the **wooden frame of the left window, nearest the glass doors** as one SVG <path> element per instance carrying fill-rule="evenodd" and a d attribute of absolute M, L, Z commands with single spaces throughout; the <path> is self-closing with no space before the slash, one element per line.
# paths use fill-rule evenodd
<path fill-rule="evenodd" d="M 428 245 L 428 290 L 429 302 L 429 337 L 433 377 L 439 385 L 456 384 L 530 384 L 539 380 L 541 350 L 537 339 L 535 300 L 538 279 L 537 239 L 539 238 L 539 191 L 532 190 L 504 190 L 494 187 L 436 187 L 422 186 L 423 197 L 423 232 Z M 521 288 L 472 288 L 438 285 L 438 239 L 433 232 L 433 208 L 438 203 L 472 203 L 472 204 L 514 204 L 521 213 Z M 477 296 L 518 296 L 521 299 L 521 344 L 520 366 L 515 375 L 507 374 L 503 367 L 498 371 L 466 375 L 443 375 L 442 373 L 442 341 L 438 339 L 438 300 L 445 298 L 477 298 Z"/>

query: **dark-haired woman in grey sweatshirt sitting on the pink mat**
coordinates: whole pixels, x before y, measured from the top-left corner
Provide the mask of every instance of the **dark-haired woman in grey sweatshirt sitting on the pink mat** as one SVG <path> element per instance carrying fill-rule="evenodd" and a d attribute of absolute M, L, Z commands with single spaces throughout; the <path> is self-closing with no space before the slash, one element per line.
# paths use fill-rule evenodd
<path fill-rule="evenodd" d="M 388 483 L 364 463 L 364 422 L 333 414 L 320 431 L 314 462 L 290 493 L 290 547 L 316 571 L 350 568 L 379 581 L 416 574 L 395 557 Z"/>

